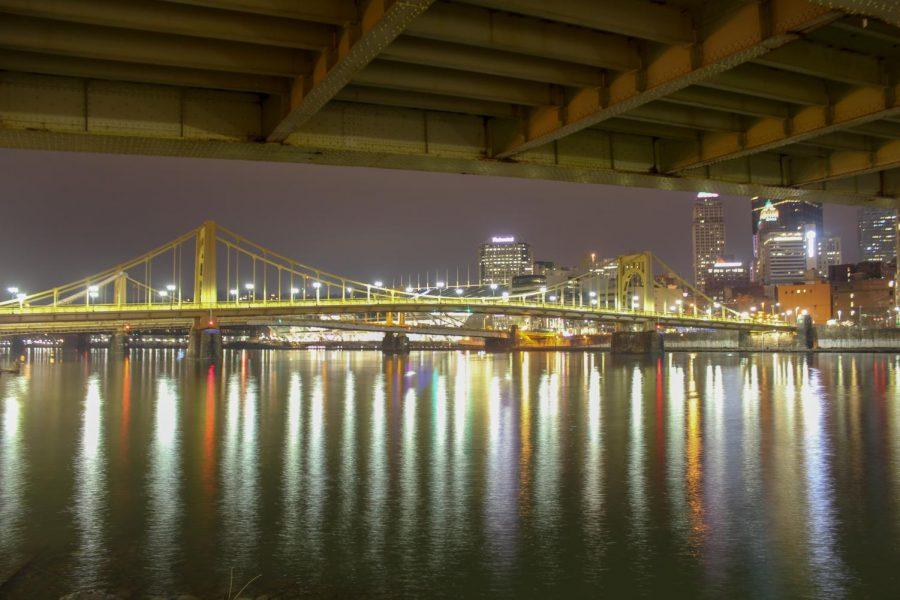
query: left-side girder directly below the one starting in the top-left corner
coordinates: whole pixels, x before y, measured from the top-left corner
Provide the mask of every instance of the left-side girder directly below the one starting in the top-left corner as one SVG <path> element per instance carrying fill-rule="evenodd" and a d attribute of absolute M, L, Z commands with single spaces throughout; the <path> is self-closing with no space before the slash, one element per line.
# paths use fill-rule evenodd
<path fill-rule="evenodd" d="M 0 47 L 151 65 L 295 76 L 312 63 L 302 50 L 4 15 Z"/>

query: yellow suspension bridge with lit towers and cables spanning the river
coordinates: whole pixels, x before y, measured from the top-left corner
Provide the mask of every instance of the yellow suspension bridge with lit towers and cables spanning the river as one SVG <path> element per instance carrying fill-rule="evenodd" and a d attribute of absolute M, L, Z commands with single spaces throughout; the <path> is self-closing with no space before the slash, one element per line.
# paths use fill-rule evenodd
<path fill-rule="evenodd" d="M 581 293 L 566 294 L 567 285 L 590 274 L 557 286 L 499 295 L 493 290 L 486 294 L 483 287 L 471 285 L 443 290 L 394 289 L 381 282 L 361 282 L 305 265 L 207 221 L 90 277 L 38 293 L 19 293 L 0 302 L 0 335 L 112 333 L 162 327 L 196 333 L 279 322 L 389 333 L 484 338 L 510 335 L 508 331 L 406 324 L 407 315 L 435 314 L 606 322 L 645 329 L 796 329 L 776 316 L 751 318 L 720 306 L 649 252 L 619 257 L 617 263 L 614 307 L 585 302 Z M 693 300 L 690 307 L 679 304 L 677 311 L 668 306 L 654 308 L 654 263 L 663 264 L 670 277 L 689 290 Z M 325 316 L 330 319 L 311 321 Z"/>

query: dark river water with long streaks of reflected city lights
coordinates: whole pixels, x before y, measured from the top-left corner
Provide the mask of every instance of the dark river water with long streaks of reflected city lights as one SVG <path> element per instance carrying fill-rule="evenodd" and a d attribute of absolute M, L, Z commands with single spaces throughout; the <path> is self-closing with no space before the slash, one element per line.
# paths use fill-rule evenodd
<path fill-rule="evenodd" d="M 898 355 L 29 360 L 0 597 L 900 590 Z"/>

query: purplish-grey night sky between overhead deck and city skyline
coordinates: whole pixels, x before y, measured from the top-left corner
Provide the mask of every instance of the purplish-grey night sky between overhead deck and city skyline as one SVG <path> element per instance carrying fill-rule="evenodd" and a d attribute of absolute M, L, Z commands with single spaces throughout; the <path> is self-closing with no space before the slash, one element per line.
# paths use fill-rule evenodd
<path fill-rule="evenodd" d="M 142 254 L 206 219 L 362 280 L 449 269 L 475 277 L 478 244 L 535 258 L 650 249 L 691 273 L 694 195 L 640 188 L 303 164 L 0 150 L 0 287 L 46 289 Z M 727 251 L 751 255 L 748 198 L 725 198 Z M 825 228 L 857 260 L 856 209 Z"/>

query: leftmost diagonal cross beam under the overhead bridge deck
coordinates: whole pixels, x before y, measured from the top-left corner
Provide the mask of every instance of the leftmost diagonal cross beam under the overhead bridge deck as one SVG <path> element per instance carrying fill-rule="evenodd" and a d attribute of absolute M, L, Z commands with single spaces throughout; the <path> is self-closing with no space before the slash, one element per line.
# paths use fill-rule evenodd
<path fill-rule="evenodd" d="M 337 43 L 319 54 L 312 74 L 294 80 L 288 98 L 272 97 L 266 111 L 269 142 L 284 142 L 353 76 L 399 36 L 434 0 L 369 0 L 360 23 L 344 27 Z"/>

